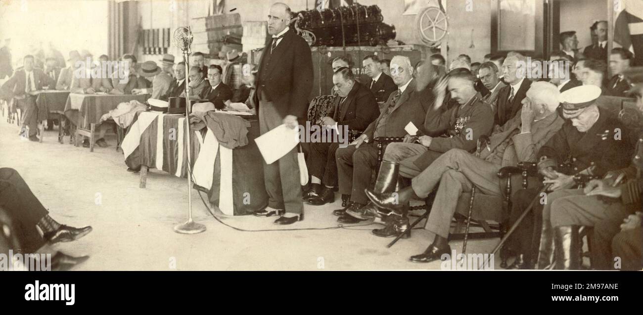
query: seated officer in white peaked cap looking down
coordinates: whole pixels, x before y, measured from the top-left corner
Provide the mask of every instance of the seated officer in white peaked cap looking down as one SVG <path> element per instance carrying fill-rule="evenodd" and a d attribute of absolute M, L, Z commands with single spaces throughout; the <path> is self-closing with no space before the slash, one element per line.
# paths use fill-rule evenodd
<path fill-rule="evenodd" d="M 582 85 L 561 93 L 566 122 L 538 152 L 538 170 L 545 176 L 543 183 L 548 185 L 546 202 L 534 203 L 532 221 L 525 220 L 518 226 L 514 239 L 518 244 L 514 245 L 514 249 L 520 255 L 510 268 L 529 269 L 533 266 L 532 260 L 536 259 L 536 251 L 539 251 L 536 269 L 552 267 L 554 235 L 550 224 L 551 208 L 557 199 L 583 194 L 583 190 L 570 189 L 577 185 L 575 174 L 602 177 L 610 170 L 618 170 L 629 164 L 633 149 L 630 132 L 617 117 L 597 106 L 600 95 L 601 88 L 595 85 Z M 568 174 L 553 170 L 561 163 L 570 168 Z M 510 221 L 519 217 L 535 197 L 543 197 L 538 195 L 540 190 L 541 187 L 532 187 L 514 194 Z M 557 229 L 558 242 L 569 237 L 573 237 L 572 231 Z M 563 259 L 570 254 L 569 246 L 559 245 L 558 250 L 563 252 L 559 255 L 561 260 L 557 261 L 557 267 L 577 267 L 577 261 Z"/>

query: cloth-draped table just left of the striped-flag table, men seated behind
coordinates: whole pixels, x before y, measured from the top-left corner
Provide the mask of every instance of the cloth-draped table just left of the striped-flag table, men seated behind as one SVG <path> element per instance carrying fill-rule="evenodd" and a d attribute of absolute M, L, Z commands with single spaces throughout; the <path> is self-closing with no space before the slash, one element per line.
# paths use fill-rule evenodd
<path fill-rule="evenodd" d="M 143 95 L 106 95 L 106 94 L 78 94 L 70 93 L 65 104 L 64 113 L 71 123 L 75 125 L 76 146 L 78 147 L 79 135 L 89 137 L 89 151 L 94 151 L 94 132 L 100 118 L 122 102 L 137 100 L 145 103 L 150 97 Z"/>

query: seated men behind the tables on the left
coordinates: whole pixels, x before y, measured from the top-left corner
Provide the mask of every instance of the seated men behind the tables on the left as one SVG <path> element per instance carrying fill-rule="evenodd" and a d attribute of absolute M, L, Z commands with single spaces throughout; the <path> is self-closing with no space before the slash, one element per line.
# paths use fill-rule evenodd
<path fill-rule="evenodd" d="M 244 56 L 244 55 L 243 55 Z M 237 80 L 236 71 L 233 67 L 240 64 L 242 54 L 236 51 L 229 52 L 223 60 L 222 66 L 205 64 L 203 53 L 195 52 L 191 56 L 192 69 L 190 69 L 190 83 L 187 89 L 190 91 L 190 98 L 195 100 L 207 100 L 215 104 L 217 109 L 225 109 L 231 102 L 246 103 L 251 91 L 253 91 L 254 71 L 250 66 L 248 73 L 241 75 L 239 86 L 231 88 L 231 82 Z M 23 58 L 23 67 L 16 69 L 13 75 L 0 87 L 3 98 L 10 101 L 14 108 L 22 111 L 21 131 L 19 136 L 24 136 L 32 141 L 39 141 L 38 132 L 38 108 L 35 104 L 37 94 L 43 89 L 56 89 L 93 95 L 96 93 L 109 95 L 149 95 L 149 98 L 168 100 L 170 97 L 185 96 L 185 62 L 175 62 L 173 55 L 165 54 L 155 61 L 138 62 L 134 55 L 123 55 L 121 62 L 111 62 L 107 55 L 101 55 L 97 59 L 89 51 L 77 50 L 69 52 L 68 66 L 62 64 L 54 57 L 47 57 L 45 60 L 37 60 L 33 55 L 26 55 Z M 105 62 L 109 62 L 106 66 Z M 44 69 L 36 67 L 43 64 Z M 127 69 L 118 69 L 127 67 Z M 105 69 L 111 73 L 105 73 Z M 225 70 L 224 70 L 225 69 Z M 100 73 L 96 76 L 95 73 Z M 123 77 L 122 77 L 123 76 Z M 225 82 L 227 79 L 228 82 Z M 12 109 L 12 112 L 15 109 Z M 109 118 L 109 117 L 105 117 Z M 70 125 L 66 118 L 61 119 L 60 128 L 65 135 L 70 133 Z M 53 122 L 48 122 L 53 127 Z M 95 143 L 100 147 L 107 147 L 105 133 L 111 129 L 111 125 L 103 120 L 96 126 L 98 135 Z M 89 147 L 89 139 L 82 140 L 84 147 Z"/>

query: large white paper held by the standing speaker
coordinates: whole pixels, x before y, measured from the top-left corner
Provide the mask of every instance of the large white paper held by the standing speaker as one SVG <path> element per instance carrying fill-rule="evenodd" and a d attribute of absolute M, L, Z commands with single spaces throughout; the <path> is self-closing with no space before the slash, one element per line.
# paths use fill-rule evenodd
<path fill-rule="evenodd" d="M 286 125 L 280 125 L 256 138 L 255 143 L 266 160 L 266 164 L 272 164 L 293 150 L 299 143 L 299 129 L 290 129 Z"/>

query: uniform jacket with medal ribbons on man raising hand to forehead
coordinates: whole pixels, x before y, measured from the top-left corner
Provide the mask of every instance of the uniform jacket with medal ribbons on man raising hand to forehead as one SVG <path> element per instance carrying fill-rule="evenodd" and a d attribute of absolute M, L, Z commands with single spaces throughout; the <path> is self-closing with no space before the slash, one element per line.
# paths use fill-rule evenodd
<path fill-rule="evenodd" d="M 451 149 L 469 152 L 475 150 L 478 138 L 488 136 L 493 131 L 493 120 L 493 109 L 491 105 L 482 101 L 480 93 L 473 96 L 464 106 L 458 104 L 442 113 L 432 109 L 426 114 L 424 122 L 426 135 L 439 138 L 433 138 L 428 152 L 413 163 L 423 170 L 435 159 L 435 152 L 444 153 Z"/>

